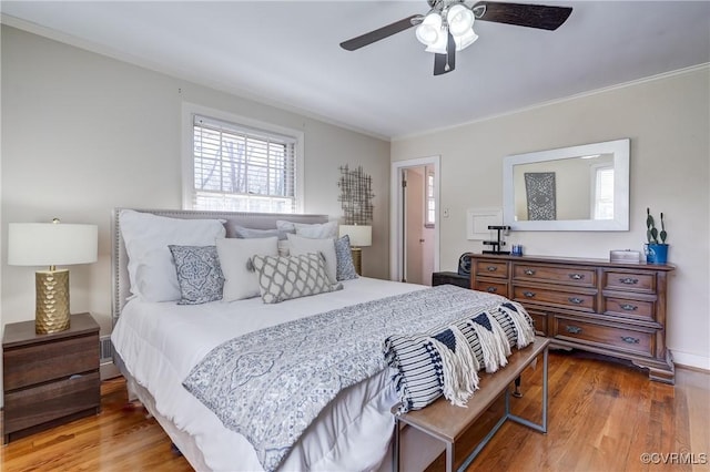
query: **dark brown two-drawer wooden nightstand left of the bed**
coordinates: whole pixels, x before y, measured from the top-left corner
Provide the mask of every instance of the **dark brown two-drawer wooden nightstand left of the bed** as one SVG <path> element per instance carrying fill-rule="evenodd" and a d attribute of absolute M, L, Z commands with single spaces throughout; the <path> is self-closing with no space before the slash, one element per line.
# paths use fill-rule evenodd
<path fill-rule="evenodd" d="M 50 335 L 37 335 L 34 320 L 6 325 L 3 443 L 99 413 L 99 325 L 89 314 Z"/>

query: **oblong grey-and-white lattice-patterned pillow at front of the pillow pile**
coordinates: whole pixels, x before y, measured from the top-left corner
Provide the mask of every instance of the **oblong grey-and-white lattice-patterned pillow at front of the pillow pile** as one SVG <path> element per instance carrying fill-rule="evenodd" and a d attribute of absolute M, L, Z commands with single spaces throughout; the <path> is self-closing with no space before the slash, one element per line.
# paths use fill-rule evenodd
<path fill-rule="evenodd" d="M 331 284 L 321 254 L 254 256 L 252 265 L 265 304 L 278 304 L 343 288 L 342 284 Z"/>

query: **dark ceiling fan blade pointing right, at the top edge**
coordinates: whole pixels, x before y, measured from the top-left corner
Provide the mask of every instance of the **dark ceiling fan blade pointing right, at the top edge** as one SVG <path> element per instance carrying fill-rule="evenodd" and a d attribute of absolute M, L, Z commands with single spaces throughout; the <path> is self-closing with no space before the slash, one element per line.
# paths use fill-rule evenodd
<path fill-rule="evenodd" d="M 474 12 L 476 12 L 477 9 L 478 11 L 483 11 L 480 16 L 476 16 L 477 20 L 539 28 L 550 31 L 558 29 L 572 12 L 570 7 L 505 3 L 497 1 L 479 1 L 473 7 Z"/>

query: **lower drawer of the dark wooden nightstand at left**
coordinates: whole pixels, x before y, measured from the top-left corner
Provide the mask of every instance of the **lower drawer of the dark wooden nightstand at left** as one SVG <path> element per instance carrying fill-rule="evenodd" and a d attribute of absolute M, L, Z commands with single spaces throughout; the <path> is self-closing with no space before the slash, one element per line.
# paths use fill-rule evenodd
<path fill-rule="evenodd" d="M 101 404 L 99 372 L 73 376 L 4 394 L 4 431 L 9 434 Z"/>

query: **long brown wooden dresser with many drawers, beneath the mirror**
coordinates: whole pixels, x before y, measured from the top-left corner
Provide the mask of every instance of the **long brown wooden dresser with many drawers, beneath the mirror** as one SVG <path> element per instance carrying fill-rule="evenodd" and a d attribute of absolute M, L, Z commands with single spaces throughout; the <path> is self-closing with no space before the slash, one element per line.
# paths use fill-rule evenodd
<path fill-rule="evenodd" d="M 673 383 L 666 348 L 670 265 L 604 259 L 471 255 L 471 288 L 508 297 L 552 347 L 627 359 L 651 380 Z"/>

